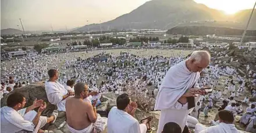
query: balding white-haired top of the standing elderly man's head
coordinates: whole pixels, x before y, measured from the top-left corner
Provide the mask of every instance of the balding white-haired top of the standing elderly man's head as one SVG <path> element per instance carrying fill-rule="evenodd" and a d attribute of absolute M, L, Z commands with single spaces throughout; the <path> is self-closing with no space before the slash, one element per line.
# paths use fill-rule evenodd
<path fill-rule="evenodd" d="M 195 60 L 195 62 L 201 62 L 201 61 L 210 61 L 211 56 L 208 53 L 208 51 L 193 51 L 191 56 L 189 57 L 190 60 Z"/>

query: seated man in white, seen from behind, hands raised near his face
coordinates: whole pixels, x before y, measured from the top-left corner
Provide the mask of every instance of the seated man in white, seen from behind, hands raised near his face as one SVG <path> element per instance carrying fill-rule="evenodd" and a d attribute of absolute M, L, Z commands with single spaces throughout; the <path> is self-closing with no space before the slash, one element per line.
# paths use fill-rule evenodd
<path fill-rule="evenodd" d="M 145 133 L 150 131 L 150 121 L 152 116 L 149 116 L 138 123 L 134 118 L 134 113 L 137 109 L 135 102 L 130 102 L 127 94 L 119 95 L 114 106 L 108 114 L 108 133 Z"/>

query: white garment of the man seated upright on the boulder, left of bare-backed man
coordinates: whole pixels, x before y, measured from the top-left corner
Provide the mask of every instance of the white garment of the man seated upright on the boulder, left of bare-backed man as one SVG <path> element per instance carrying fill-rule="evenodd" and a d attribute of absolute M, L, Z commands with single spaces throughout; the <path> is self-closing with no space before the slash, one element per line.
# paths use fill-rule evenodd
<path fill-rule="evenodd" d="M 65 111 L 66 99 L 63 99 L 63 95 L 67 94 L 67 90 L 59 82 L 45 82 L 45 91 L 48 101 L 51 104 L 57 105 L 59 111 Z"/>

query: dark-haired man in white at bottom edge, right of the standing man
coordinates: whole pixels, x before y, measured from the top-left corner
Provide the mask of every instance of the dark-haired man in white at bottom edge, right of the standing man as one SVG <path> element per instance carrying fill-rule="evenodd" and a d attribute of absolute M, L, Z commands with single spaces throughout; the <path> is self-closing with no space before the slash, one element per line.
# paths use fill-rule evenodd
<path fill-rule="evenodd" d="M 195 126 L 195 133 L 212 133 L 212 132 L 225 132 L 225 133 L 239 133 L 240 131 L 234 126 L 233 113 L 228 110 L 219 111 L 219 124 L 211 127 L 205 127 L 202 124 Z"/>

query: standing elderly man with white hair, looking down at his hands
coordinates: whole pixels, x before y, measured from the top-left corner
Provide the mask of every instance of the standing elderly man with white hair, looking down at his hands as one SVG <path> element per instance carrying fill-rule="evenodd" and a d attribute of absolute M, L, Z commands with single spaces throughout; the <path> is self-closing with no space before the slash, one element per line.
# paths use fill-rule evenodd
<path fill-rule="evenodd" d="M 199 89 L 197 80 L 202 69 L 209 65 L 210 58 L 207 51 L 194 51 L 189 59 L 168 70 L 155 102 L 155 110 L 161 110 L 157 133 L 161 133 L 163 126 L 169 122 L 179 124 L 184 130 L 187 114 L 200 98 L 197 96 L 205 95 L 205 90 Z"/>

